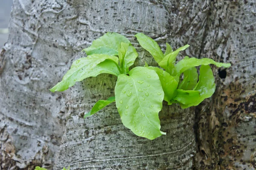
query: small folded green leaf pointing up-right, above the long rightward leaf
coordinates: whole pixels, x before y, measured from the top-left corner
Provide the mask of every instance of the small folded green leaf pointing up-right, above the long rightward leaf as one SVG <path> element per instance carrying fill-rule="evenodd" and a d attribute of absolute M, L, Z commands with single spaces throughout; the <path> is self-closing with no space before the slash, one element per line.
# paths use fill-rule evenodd
<path fill-rule="evenodd" d="M 189 47 L 189 45 L 187 44 L 187 45 L 180 47 L 177 50 L 169 53 L 168 55 L 166 55 L 163 58 L 163 60 L 161 62 L 159 62 L 160 67 L 167 69 L 171 63 L 174 65 L 176 62 L 176 57 L 179 54 L 179 52 L 186 50 L 186 48 L 188 48 L 188 47 Z"/>

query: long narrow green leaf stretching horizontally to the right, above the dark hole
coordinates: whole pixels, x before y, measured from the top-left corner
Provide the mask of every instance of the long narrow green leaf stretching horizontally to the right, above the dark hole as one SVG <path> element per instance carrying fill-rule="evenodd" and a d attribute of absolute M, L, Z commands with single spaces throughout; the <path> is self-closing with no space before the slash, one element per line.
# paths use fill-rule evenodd
<path fill-rule="evenodd" d="M 195 57 L 192 57 L 192 58 L 186 57 L 186 58 L 180 60 L 175 65 L 175 68 L 177 70 L 177 73 L 181 74 L 189 68 L 196 67 L 199 65 L 209 65 L 209 64 L 214 64 L 217 67 L 225 67 L 225 68 L 231 66 L 230 63 L 215 62 L 213 59 L 209 59 L 209 58 L 197 59 Z"/>

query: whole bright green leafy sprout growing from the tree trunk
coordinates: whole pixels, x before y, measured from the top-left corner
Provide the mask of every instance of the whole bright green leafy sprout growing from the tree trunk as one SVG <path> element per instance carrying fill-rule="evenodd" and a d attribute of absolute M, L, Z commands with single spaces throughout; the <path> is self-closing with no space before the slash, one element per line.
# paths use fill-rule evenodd
<path fill-rule="evenodd" d="M 186 56 L 175 65 L 178 53 L 189 45 L 173 51 L 166 43 L 166 52 L 163 54 L 157 42 L 150 37 L 142 33 L 136 34 L 135 37 L 164 70 L 145 63 L 144 67 L 135 67 L 129 71 L 129 67 L 134 64 L 138 56 L 135 48 L 124 36 L 107 33 L 83 50 L 88 56 L 73 62 L 62 81 L 50 91 L 64 91 L 87 77 L 96 77 L 102 73 L 113 74 L 118 77 L 115 96 L 96 102 L 84 118 L 116 102 L 125 127 L 131 129 L 137 136 L 152 140 L 166 134 L 160 131 L 158 117 L 163 100 L 168 102 L 168 105 L 178 103 L 181 108 L 198 105 L 205 98 L 212 96 L 215 91 L 215 79 L 209 64 L 218 67 L 230 67 L 230 64 L 215 62 L 208 58 L 197 59 Z M 199 65 L 202 66 L 198 80 L 195 67 Z M 180 81 L 182 74 L 184 78 Z"/>

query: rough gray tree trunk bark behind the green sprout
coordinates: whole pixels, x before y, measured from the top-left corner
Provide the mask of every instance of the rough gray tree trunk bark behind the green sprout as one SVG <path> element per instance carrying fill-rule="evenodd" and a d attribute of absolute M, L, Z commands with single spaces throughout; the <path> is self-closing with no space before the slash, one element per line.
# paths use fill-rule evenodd
<path fill-rule="evenodd" d="M 14 0 L 0 55 L 0 169 L 255 169 L 255 15 L 253 0 Z M 198 107 L 164 103 L 167 135 L 150 141 L 122 125 L 115 105 L 83 119 L 114 95 L 116 77 L 48 90 L 108 31 L 131 40 L 135 65 L 156 65 L 134 38 L 144 32 L 163 49 L 191 45 L 178 60 L 186 54 L 232 67 L 212 67 L 216 92 Z"/>

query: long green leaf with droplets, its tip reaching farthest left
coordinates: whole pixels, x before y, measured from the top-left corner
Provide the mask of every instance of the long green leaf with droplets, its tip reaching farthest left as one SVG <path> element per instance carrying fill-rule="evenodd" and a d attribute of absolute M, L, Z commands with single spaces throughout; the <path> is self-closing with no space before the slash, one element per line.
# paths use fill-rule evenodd
<path fill-rule="evenodd" d="M 99 74 L 108 73 L 118 76 L 120 68 L 118 58 L 105 54 L 93 54 L 86 58 L 80 58 L 73 62 L 71 68 L 50 91 L 64 91 L 87 77 L 96 77 Z"/>

